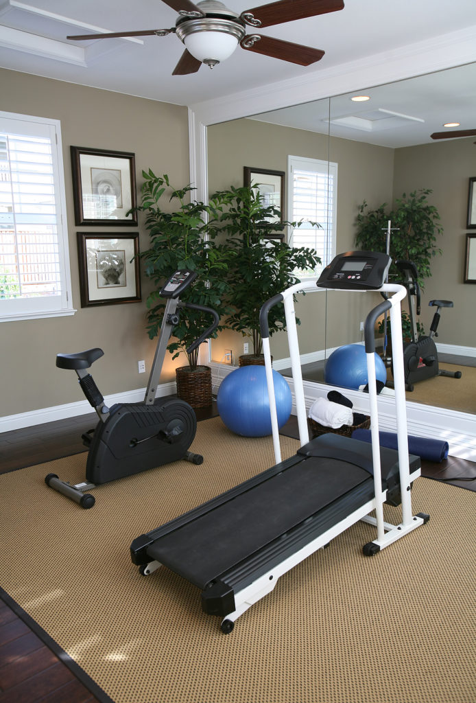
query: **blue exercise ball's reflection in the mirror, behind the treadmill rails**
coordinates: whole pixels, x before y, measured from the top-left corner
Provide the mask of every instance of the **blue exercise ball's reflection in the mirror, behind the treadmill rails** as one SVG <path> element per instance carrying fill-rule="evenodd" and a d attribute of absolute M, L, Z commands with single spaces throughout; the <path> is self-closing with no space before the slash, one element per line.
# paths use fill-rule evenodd
<path fill-rule="evenodd" d="M 387 369 L 378 354 L 375 354 L 375 375 L 378 381 L 387 382 Z M 333 386 L 355 388 L 369 382 L 365 347 L 362 344 L 345 344 L 335 349 L 324 368 L 324 380 Z"/>

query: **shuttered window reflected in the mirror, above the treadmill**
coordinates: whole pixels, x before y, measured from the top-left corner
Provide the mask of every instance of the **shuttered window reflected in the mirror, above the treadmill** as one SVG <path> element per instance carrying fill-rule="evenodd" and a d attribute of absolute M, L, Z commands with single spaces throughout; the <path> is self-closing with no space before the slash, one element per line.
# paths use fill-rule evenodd
<path fill-rule="evenodd" d="M 290 221 L 308 223 L 291 228 L 289 243 L 317 251 L 322 264 L 300 278 L 319 276 L 336 255 L 337 164 L 300 156 L 288 157 Z M 318 222 L 321 227 L 312 226 Z"/>

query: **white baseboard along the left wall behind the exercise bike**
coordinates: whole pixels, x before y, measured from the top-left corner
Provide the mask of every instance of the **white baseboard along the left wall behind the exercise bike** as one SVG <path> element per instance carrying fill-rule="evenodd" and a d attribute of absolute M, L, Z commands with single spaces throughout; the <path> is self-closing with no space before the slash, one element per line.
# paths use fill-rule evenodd
<path fill-rule="evenodd" d="M 176 382 L 163 383 L 157 388 L 157 398 L 176 392 Z M 138 388 L 133 391 L 124 391 L 123 393 L 105 396 L 105 402 L 107 406 L 112 406 L 116 403 L 140 403 L 140 401 L 143 401 L 144 396 L 145 388 Z M 88 401 L 81 400 L 76 403 L 57 405 L 52 408 L 41 408 L 40 410 L 33 410 L 29 413 L 8 415 L 4 418 L 0 418 L 0 432 L 20 430 L 21 427 L 32 427 L 33 425 L 44 425 L 44 423 L 53 423 L 55 420 L 75 418 L 79 415 L 87 415 L 93 412 L 94 408 L 91 408 Z"/>

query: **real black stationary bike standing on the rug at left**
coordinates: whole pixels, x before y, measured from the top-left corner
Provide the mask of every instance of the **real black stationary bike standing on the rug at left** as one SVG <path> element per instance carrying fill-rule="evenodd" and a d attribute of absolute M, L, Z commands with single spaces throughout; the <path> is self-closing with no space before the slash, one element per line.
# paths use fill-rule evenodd
<path fill-rule="evenodd" d="M 203 462 L 203 456 L 188 451 L 197 430 L 197 418 L 190 405 L 177 398 L 155 399 L 168 340 L 179 322 L 180 310 L 189 308 L 213 316 L 211 326 L 187 349 L 189 354 L 218 327 L 219 317 L 215 310 L 204 305 L 180 302 L 180 295 L 195 278 L 197 273 L 194 271 L 176 271 L 160 291 L 167 302 L 143 402 L 118 403 L 107 408 L 103 395 L 87 370 L 103 356 L 102 349 L 56 356 L 58 368 L 72 369 L 77 373 L 79 385 L 99 417 L 95 429 L 82 435 L 83 444 L 88 447 L 86 481 L 71 485 L 61 481 L 56 474 L 48 474 L 45 478 L 48 486 L 72 498 L 82 508 L 93 507 L 95 498 L 85 491 L 97 485 L 179 459 L 194 464 Z"/>

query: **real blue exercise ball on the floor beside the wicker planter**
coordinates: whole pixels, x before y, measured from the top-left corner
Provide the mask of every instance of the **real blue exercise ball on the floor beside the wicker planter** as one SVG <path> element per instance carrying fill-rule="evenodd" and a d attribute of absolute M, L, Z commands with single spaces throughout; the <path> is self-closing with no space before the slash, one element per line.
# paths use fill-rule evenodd
<path fill-rule="evenodd" d="M 291 391 L 280 373 L 273 371 L 272 378 L 278 425 L 282 427 L 291 415 Z M 229 373 L 220 384 L 216 403 L 223 423 L 235 434 L 266 437 L 272 433 L 264 366 L 241 366 Z"/>

